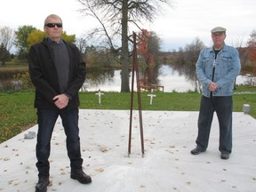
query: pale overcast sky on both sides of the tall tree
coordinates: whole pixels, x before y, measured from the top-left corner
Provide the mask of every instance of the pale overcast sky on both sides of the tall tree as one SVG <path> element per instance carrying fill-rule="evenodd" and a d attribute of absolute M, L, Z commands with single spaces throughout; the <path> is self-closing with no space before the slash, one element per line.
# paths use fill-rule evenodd
<path fill-rule="evenodd" d="M 166 7 L 154 23 L 141 26 L 156 32 L 162 39 L 163 51 L 184 48 L 196 37 L 210 46 L 210 31 L 216 26 L 227 28 L 226 43 L 230 45 L 241 41 L 246 44 L 252 30 L 256 30 L 256 0 L 173 1 L 174 7 Z M 84 18 L 79 8 L 77 0 L 1 0 L 0 27 L 16 30 L 32 25 L 43 30 L 45 17 L 55 13 L 63 20 L 68 35 L 80 37 L 97 22 Z"/>

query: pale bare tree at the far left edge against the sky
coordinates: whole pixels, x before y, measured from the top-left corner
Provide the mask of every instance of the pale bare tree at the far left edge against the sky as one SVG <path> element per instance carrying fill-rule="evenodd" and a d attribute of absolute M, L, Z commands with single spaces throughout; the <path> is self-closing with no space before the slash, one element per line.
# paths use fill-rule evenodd
<path fill-rule="evenodd" d="M 4 48 L 10 52 L 14 40 L 14 31 L 12 28 L 0 28 L 0 44 L 4 44 Z"/>

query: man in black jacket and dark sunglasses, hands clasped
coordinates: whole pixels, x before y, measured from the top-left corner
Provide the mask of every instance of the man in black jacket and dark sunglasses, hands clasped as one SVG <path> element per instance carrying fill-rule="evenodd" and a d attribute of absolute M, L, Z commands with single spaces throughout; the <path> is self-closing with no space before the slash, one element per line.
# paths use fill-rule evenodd
<path fill-rule="evenodd" d="M 31 46 L 28 56 L 29 74 L 36 86 L 37 108 L 36 192 L 46 191 L 49 184 L 50 144 L 58 116 L 67 136 L 71 175 L 81 183 L 92 182 L 83 171 L 78 128 L 78 92 L 85 80 L 85 63 L 75 44 L 61 39 L 62 20 L 51 14 L 44 20 L 44 40 Z"/>

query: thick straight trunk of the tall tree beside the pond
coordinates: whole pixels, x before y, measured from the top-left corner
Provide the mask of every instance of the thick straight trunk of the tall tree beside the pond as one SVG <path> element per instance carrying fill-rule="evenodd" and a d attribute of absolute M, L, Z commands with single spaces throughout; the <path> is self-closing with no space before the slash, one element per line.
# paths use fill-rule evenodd
<path fill-rule="evenodd" d="M 128 50 L 128 0 L 122 6 L 122 49 L 121 49 L 121 92 L 130 92 L 129 86 L 129 50 Z"/>

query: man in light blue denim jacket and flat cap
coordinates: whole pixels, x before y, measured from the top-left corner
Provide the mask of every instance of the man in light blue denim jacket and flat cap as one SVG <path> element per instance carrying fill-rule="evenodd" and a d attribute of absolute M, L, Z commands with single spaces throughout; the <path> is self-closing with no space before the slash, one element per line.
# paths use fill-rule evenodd
<path fill-rule="evenodd" d="M 228 159 L 232 151 L 232 95 L 241 65 L 237 50 L 224 42 L 226 28 L 212 28 L 211 32 L 213 46 L 204 48 L 196 62 L 196 76 L 203 84 L 203 95 L 196 148 L 191 153 L 198 155 L 208 147 L 212 117 L 216 111 L 220 124 L 220 158 Z"/>

